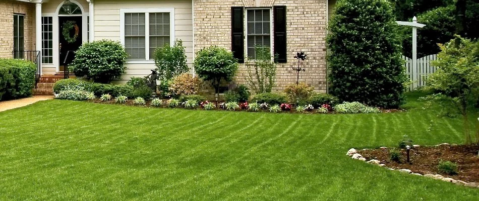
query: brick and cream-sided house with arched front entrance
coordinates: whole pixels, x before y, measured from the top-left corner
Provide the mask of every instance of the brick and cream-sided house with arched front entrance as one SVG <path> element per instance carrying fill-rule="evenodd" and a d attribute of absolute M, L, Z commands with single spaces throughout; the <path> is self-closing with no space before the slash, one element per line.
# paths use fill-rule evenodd
<path fill-rule="evenodd" d="M 56 79 L 65 73 L 63 62 L 69 51 L 92 40 L 111 39 L 121 41 L 131 55 L 122 77 L 128 80 L 149 74 L 155 68 L 155 48 L 179 39 L 186 47 L 189 65 L 195 52 L 204 47 L 232 50 L 241 63 L 235 82 L 245 83 L 245 60 L 254 55 L 252 47 L 261 44 L 279 56 L 276 90 L 296 82 L 293 56 L 305 52 L 308 59 L 302 67 L 306 72 L 300 74 L 300 81 L 325 92 L 326 27 L 334 2 L 2 0 L 0 57 L 37 61 L 42 78 Z"/>

